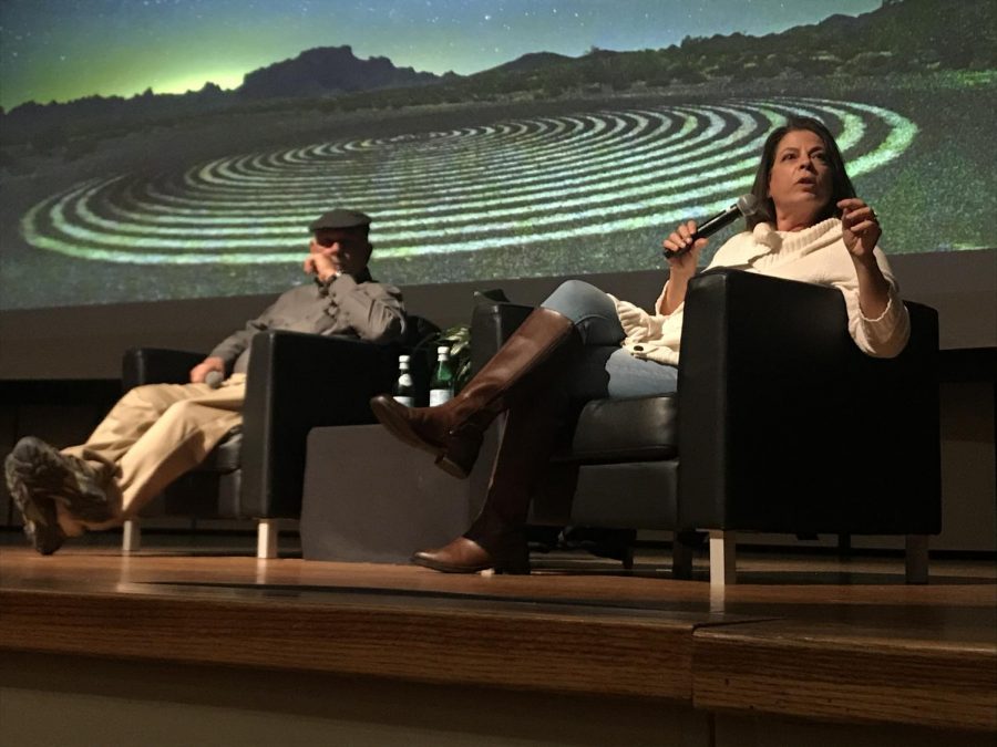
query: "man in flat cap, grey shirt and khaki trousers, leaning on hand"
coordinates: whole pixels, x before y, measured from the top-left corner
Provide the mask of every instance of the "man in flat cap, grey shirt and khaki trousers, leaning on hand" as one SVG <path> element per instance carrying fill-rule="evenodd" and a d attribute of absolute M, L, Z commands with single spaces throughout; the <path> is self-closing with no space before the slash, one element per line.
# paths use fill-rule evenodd
<path fill-rule="evenodd" d="M 305 272 L 246 328 L 191 370 L 189 384 L 152 384 L 126 393 L 85 444 L 56 450 L 28 436 L 7 457 L 10 494 L 24 533 L 42 554 L 68 537 L 106 529 L 137 513 L 174 479 L 196 467 L 241 423 L 253 335 L 291 330 L 391 342 L 404 334 L 401 292 L 367 269 L 370 218 L 326 212 L 310 226 Z"/>

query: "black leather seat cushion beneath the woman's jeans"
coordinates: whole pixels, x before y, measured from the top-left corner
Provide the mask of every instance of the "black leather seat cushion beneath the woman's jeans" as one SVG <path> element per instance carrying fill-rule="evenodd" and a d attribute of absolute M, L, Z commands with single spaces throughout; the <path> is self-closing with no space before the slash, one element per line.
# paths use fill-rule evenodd
<path fill-rule="evenodd" d="M 593 400 L 578 417 L 572 458 L 585 464 L 675 458 L 677 405 L 675 395 Z"/>

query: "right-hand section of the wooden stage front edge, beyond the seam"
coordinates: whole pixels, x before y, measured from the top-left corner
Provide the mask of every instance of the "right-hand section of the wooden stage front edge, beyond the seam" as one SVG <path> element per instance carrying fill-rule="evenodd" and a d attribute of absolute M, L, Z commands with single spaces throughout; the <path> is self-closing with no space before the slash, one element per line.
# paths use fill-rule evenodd
<path fill-rule="evenodd" d="M 995 730 L 994 616 L 946 616 L 954 624 L 779 620 L 697 630 L 696 706 Z"/>

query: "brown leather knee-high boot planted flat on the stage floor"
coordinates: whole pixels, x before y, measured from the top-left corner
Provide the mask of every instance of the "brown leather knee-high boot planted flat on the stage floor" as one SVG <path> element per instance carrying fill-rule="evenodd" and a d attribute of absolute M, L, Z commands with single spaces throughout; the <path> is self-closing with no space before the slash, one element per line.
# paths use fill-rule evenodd
<path fill-rule="evenodd" d="M 533 489 L 547 467 L 567 422 L 567 397 L 546 386 L 510 411 L 489 485 L 471 528 L 449 544 L 423 550 L 412 562 L 446 573 L 528 573 L 524 526 Z"/>

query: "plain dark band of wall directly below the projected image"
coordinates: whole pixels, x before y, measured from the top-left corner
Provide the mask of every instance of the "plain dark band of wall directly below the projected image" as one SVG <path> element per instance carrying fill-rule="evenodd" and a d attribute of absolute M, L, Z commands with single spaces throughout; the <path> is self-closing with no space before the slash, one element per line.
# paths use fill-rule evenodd
<path fill-rule="evenodd" d="M 997 250 L 891 257 L 905 298 L 939 311 L 942 347 L 997 346 Z M 408 308 L 441 326 L 467 322 L 475 290 L 502 287 L 539 303 L 566 278 L 500 280 L 404 289 Z M 664 272 L 585 278 L 650 308 Z M 0 380 L 115 378 L 129 347 L 210 350 L 257 315 L 273 297 L 92 305 L 0 313 Z"/>

